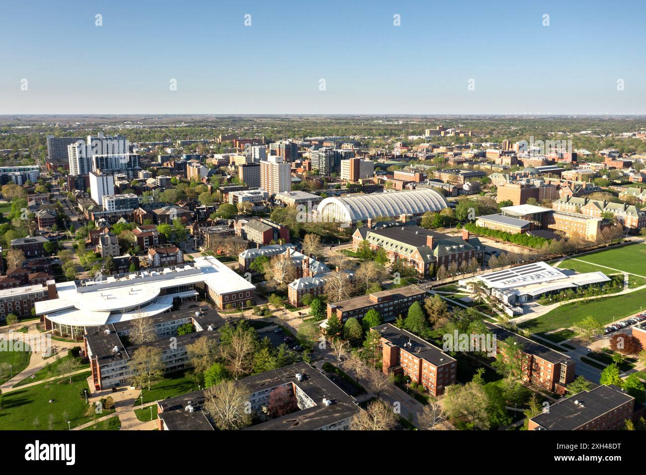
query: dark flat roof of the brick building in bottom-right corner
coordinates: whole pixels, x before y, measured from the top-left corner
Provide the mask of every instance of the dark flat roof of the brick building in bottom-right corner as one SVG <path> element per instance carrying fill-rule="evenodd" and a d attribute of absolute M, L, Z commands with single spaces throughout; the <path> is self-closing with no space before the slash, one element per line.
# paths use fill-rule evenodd
<path fill-rule="evenodd" d="M 550 405 L 550 412 L 532 417 L 532 421 L 547 430 L 574 430 L 630 399 L 634 397 L 617 386 L 598 386 Z M 583 403 L 583 406 L 574 401 Z"/>

